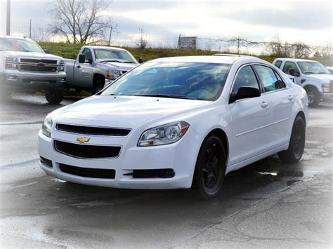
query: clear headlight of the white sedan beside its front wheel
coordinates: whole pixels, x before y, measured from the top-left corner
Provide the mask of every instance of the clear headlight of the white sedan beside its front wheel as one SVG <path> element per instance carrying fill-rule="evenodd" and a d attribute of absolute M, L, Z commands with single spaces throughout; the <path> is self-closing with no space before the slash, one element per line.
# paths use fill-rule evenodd
<path fill-rule="evenodd" d="M 146 130 L 138 140 L 138 147 L 172 144 L 185 135 L 190 125 L 186 122 L 169 123 Z"/>

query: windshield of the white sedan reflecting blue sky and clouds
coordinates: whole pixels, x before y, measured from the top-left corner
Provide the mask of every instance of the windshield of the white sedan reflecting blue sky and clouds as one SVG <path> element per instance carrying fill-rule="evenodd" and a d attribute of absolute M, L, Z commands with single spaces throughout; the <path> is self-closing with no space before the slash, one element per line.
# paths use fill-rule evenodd
<path fill-rule="evenodd" d="M 124 74 L 101 95 L 136 95 L 216 100 L 230 65 L 199 62 L 146 62 Z"/>

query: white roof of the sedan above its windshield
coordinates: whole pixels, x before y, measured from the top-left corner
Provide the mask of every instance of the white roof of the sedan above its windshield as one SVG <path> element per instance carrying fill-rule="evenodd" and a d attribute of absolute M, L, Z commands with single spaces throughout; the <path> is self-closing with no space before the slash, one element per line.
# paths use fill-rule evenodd
<path fill-rule="evenodd" d="M 179 56 L 179 57 L 167 57 L 150 60 L 150 62 L 204 62 L 204 63 L 221 63 L 221 64 L 233 64 L 236 61 L 244 60 L 247 62 L 261 62 L 268 63 L 265 60 L 261 60 L 255 57 L 249 56 Z"/>

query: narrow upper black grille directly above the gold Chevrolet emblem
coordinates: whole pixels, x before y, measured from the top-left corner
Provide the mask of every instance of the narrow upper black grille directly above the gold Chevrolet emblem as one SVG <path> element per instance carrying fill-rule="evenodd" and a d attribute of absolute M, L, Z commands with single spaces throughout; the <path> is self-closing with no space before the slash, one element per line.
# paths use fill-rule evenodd
<path fill-rule="evenodd" d="M 104 127 L 92 127 L 92 126 L 74 126 L 63 123 L 57 123 L 55 126 L 57 130 L 65 131 L 67 133 L 77 133 L 85 135 L 109 135 L 115 137 L 124 137 L 129 135 L 130 129 L 121 128 L 104 128 Z"/>

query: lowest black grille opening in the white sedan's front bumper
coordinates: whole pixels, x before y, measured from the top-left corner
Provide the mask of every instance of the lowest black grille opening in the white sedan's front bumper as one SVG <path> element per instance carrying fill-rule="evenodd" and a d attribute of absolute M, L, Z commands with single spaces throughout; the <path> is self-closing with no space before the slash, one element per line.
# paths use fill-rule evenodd
<path fill-rule="evenodd" d="M 116 170 L 108 170 L 102 168 L 81 168 L 59 163 L 59 168 L 63 173 L 77 175 L 80 177 L 115 179 Z"/>

